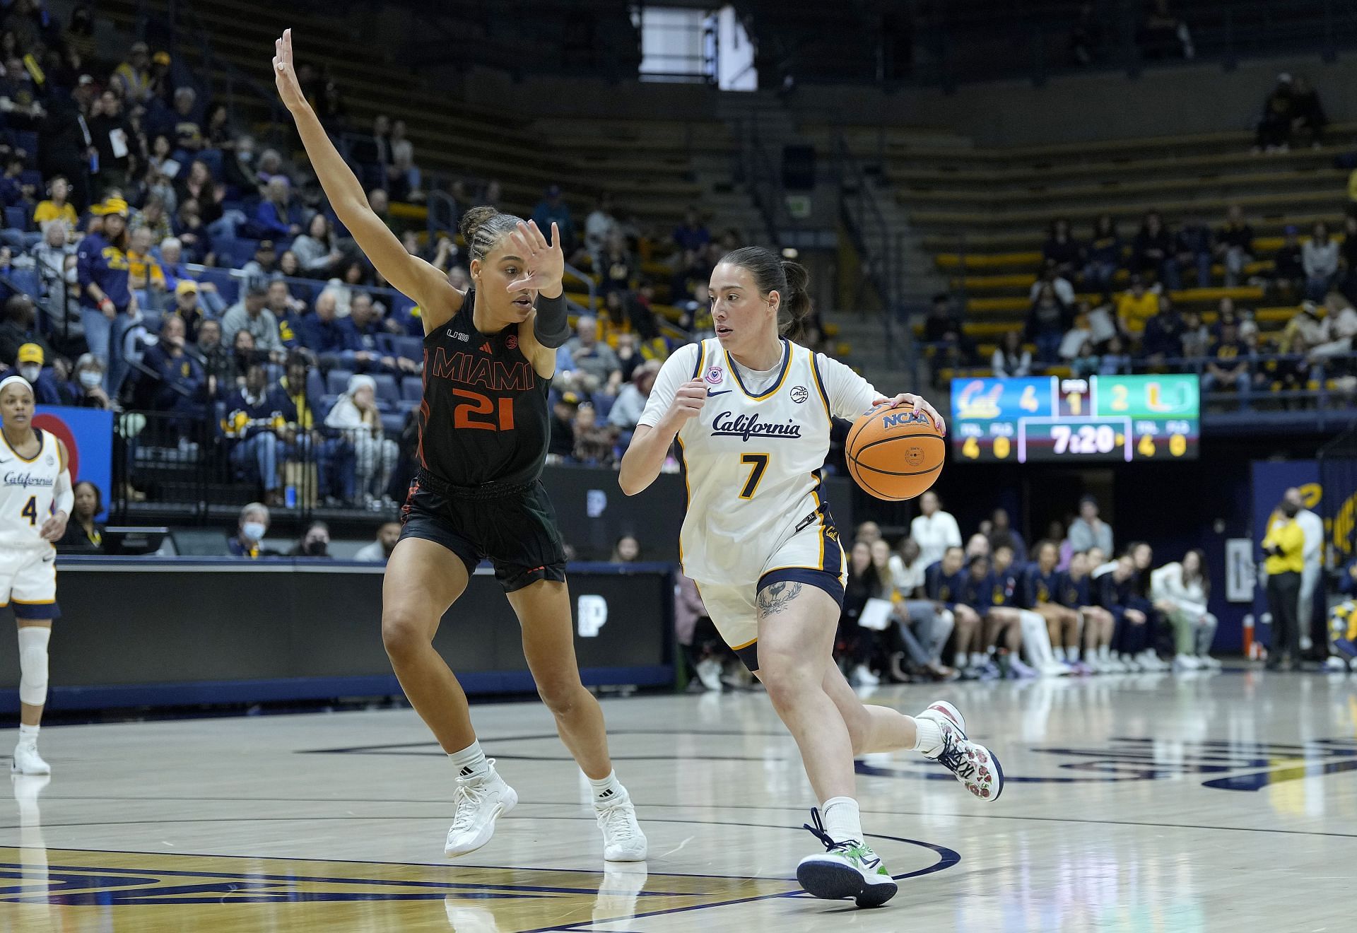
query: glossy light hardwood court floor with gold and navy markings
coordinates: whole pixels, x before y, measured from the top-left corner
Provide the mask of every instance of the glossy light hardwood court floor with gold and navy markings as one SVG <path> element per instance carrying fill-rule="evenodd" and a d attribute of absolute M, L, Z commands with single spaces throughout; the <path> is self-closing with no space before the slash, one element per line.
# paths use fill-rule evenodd
<path fill-rule="evenodd" d="M 448 862 L 452 773 L 410 711 L 57 727 L 0 796 L 0 930 L 1350 930 L 1357 675 L 1225 673 L 878 690 L 946 697 L 1008 774 L 965 795 L 870 755 L 885 909 L 799 894 L 810 792 L 761 694 L 608 700 L 650 837 L 605 867 L 535 704 L 478 704 L 518 808 Z M 12 732 L 3 736 L 9 747 Z"/>

